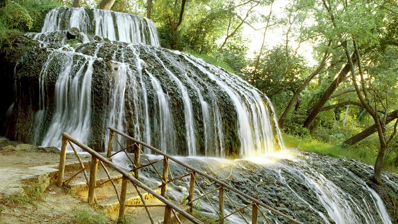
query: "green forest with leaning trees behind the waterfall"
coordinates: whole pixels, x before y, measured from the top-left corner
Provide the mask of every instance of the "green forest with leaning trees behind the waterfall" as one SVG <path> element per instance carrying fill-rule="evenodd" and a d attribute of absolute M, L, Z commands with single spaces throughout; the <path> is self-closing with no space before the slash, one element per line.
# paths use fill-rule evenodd
<path fill-rule="evenodd" d="M 150 18 L 273 102 L 288 147 L 398 169 L 396 0 L 0 0 L 0 50 L 59 6 Z"/>

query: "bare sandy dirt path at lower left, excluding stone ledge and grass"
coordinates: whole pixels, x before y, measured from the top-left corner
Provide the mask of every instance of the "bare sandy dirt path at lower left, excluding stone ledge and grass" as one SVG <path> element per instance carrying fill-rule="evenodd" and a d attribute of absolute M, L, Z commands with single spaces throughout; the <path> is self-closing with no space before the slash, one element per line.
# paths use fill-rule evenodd
<path fill-rule="evenodd" d="M 57 168 L 59 154 L 55 151 L 26 144 L 9 145 L 0 140 L 0 224 L 70 224 L 76 223 L 75 216 L 79 211 L 96 214 L 84 199 L 68 194 L 70 191 L 55 185 L 49 185 L 43 193 L 38 194 L 38 198 L 29 199 L 30 202 L 24 201 L 26 198 L 23 199 L 23 196 L 6 197 L 10 189 L 32 184 L 27 179 L 34 179 L 41 173 Z M 75 159 L 74 155 L 68 155 L 66 160 L 72 159 Z M 20 200 L 23 203 L 18 202 Z M 113 223 L 106 216 L 104 218 L 106 223 Z"/>

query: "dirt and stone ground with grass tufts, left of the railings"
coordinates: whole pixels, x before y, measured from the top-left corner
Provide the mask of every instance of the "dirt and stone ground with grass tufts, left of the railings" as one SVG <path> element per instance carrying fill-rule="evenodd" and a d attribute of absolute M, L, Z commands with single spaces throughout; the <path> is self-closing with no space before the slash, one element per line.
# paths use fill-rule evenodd
<path fill-rule="evenodd" d="M 88 155 L 80 157 L 90 159 Z M 107 215 L 100 206 L 90 206 L 87 196 L 56 186 L 59 164 L 56 147 L 0 140 L 0 161 L 0 224 L 116 223 L 117 214 Z M 73 153 L 67 154 L 66 164 L 76 161 Z M 148 222 L 143 208 L 127 208 L 126 212 L 126 223 Z M 151 213 L 156 216 L 156 210 Z"/>

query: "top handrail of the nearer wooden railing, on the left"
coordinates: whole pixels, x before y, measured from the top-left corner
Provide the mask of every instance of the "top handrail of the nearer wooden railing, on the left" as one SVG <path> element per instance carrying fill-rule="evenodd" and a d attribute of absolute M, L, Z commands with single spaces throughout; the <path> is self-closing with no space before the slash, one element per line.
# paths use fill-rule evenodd
<path fill-rule="evenodd" d="M 144 185 L 143 183 L 141 183 L 140 181 L 135 179 L 130 173 L 128 173 L 124 169 L 121 169 L 120 167 L 116 166 L 114 163 L 108 161 L 105 157 L 101 156 L 98 152 L 94 151 L 93 149 L 91 149 L 87 145 L 85 145 L 85 144 L 81 143 L 80 141 L 72 138 L 72 136 L 70 136 L 69 134 L 67 134 L 65 132 L 62 133 L 62 136 L 67 141 L 73 142 L 75 145 L 79 146 L 84 151 L 90 153 L 93 158 L 96 158 L 99 161 L 102 161 L 104 164 L 108 165 L 109 167 L 112 167 L 113 169 L 115 169 L 116 171 L 121 173 L 123 175 L 123 177 L 128 179 L 129 181 L 131 181 L 131 183 L 133 183 L 133 185 L 136 185 L 137 187 L 140 187 L 141 189 L 144 189 L 144 191 L 146 191 L 146 192 L 150 193 L 151 195 L 153 195 L 154 197 L 158 198 L 161 202 L 166 204 L 166 208 L 172 208 L 172 209 L 176 210 L 179 214 L 181 214 L 182 216 L 184 216 L 185 218 L 187 218 L 189 221 L 193 222 L 194 224 L 203 224 L 203 222 L 201 222 L 197 218 L 191 216 L 190 214 L 188 214 L 187 212 L 185 212 L 184 210 L 182 210 L 178 206 L 174 205 L 172 202 L 168 201 L 166 198 L 164 198 L 163 196 L 161 196 L 158 193 L 156 193 L 155 191 L 153 191 L 150 187 Z M 66 143 L 66 141 L 65 141 L 65 143 Z M 93 181 L 93 182 L 95 182 L 95 181 Z M 124 205 L 123 205 L 123 207 L 124 207 Z"/>

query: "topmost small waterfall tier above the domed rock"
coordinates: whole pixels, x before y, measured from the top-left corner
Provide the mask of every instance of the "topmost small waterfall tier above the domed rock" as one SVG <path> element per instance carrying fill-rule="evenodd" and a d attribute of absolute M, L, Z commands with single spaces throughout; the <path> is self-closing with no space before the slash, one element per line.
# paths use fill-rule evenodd
<path fill-rule="evenodd" d="M 84 34 L 84 42 L 98 36 L 111 41 L 160 46 L 155 25 L 151 20 L 127 13 L 86 8 L 52 9 L 46 15 L 41 34 L 35 39 L 43 39 L 43 36 L 52 32 L 58 32 L 60 35 L 59 31 L 67 31 L 72 27 L 78 28 Z"/>

